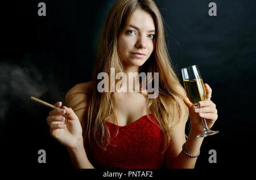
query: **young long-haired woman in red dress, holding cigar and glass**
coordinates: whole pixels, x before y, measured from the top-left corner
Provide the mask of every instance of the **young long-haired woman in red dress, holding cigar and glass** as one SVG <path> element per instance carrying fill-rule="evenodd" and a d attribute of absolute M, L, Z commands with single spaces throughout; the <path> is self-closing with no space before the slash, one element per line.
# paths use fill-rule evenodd
<path fill-rule="evenodd" d="M 123 91 L 125 83 L 114 92 L 100 91 L 98 75 L 111 76 L 112 68 L 115 75 L 127 75 L 127 82 L 135 79 L 140 91 Z M 138 74 L 130 78 L 129 72 L 158 72 L 151 79 L 158 96 L 148 98 Z M 104 89 L 112 88 L 107 85 Z M 154 1 L 118 0 L 104 24 L 92 81 L 70 89 L 65 106 L 57 102 L 59 109 L 49 112 L 47 122 L 77 168 L 194 168 L 203 142 L 196 137 L 203 132 L 201 118 L 209 128 L 217 119 L 212 89 L 207 84 L 205 89 L 207 100 L 195 109 L 171 66 Z"/>

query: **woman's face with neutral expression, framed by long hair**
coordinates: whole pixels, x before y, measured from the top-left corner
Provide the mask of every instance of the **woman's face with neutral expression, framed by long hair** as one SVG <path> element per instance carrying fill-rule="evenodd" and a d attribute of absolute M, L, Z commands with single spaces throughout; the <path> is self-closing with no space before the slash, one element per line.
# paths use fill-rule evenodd
<path fill-rule="evenodd" d="M 118 37 L 118 49 L 126 66 L 142 66 L 154 50 L 155 24 L 151 15 L 136 10 Z"/>

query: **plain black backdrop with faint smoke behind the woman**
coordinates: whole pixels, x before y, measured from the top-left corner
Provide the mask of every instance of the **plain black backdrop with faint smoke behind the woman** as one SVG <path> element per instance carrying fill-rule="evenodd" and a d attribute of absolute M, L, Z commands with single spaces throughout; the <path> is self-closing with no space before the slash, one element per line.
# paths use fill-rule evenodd
<path fill-rule="evenodd" d="M 113 1 L 41 1 L 1 3 L 0 164 L 19 168 L 71 168 L 69 155 L 49 135 L 50 109 L 81 82 L 90 81 L 101 25 Z M 217 4 L 217 16 L 208 4 Z M 249 168 L 255 162 L 256 2 L 254 0 L 158 0 L 167 30 L 172 63 L 180 69 L 198 65 L 213 89 L 218 121 L 205 138 L 197 169 Z M 47 163 L 38 163 L 39 149 Z M 210 149 L 217 163 L 208 162 Z"/>

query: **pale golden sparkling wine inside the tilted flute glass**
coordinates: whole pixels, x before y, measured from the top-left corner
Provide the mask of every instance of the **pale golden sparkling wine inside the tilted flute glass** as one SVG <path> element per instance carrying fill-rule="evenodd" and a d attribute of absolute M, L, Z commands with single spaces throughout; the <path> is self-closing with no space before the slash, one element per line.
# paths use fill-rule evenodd
<path fill-rule="evenodd" d="M 205 88 L 203 79 L 183 80 L 185 91 L 189 100 L 197 106 L 197 102 L 205 100 Z"/>

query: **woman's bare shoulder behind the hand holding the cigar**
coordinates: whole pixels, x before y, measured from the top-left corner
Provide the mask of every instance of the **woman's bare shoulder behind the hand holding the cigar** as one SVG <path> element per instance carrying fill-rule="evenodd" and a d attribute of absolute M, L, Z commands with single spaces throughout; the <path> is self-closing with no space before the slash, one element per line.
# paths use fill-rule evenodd
<path fill-rule="evenodd" d="M 85 108 L 88 91 L 91 82 L 74 85 L 65 95 L 65 105 L 72 108 L 74 112 Z"/>

